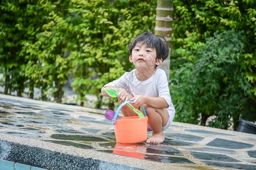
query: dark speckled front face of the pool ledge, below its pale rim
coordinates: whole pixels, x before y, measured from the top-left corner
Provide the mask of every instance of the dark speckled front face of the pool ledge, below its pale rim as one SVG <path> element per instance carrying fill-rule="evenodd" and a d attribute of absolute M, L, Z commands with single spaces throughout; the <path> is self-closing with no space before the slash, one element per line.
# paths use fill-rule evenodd
<path fill-rule="evenodd" d="M 7 154 L 5 160 L 18 162 L 20 164 L 31 165 L 45 169 L 138 169 L 128 167 L 126 165 L 104 162 L 102 160 L 92 158 L 82 158 L 63 154 L 61 152 L 53 152 L 39 147 L 30 147 L 27 145 L 18 145 L 13 142 L 0 141 L 1 146 L 5 146 L 5 150 L 1 149 L 1 155 Z"/>

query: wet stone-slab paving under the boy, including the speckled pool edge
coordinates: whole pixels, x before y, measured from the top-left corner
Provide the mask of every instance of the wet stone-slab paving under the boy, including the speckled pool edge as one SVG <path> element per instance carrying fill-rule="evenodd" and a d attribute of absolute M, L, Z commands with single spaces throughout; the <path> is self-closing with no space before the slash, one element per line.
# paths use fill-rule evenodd
<path fill-rule="evenodd" d="M 121 144 L 103 113 L 0 95 L 0 160 L 44 169 L 256 169 L 255 134 L 173 122 L 162 144 Z"/>

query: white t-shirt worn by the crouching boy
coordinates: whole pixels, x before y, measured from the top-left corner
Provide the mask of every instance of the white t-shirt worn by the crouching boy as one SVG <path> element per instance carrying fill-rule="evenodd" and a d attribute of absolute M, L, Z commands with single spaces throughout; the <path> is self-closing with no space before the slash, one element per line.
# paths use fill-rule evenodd
<path fill-rule="evenodd" d="M 126 72 L 119 79 L 106 84 L 104 87 L 122 87 L 133 96 L 145 95 L 151 97 L 163 97 L 169 105 L 167 110 L 172 121 L 175 109 L 172 104 L 166 73 L 162 69 L 156 68 L 155 73 L 149 79 L 141 82 L 137 79 L 135 71 L 136 69 Z"/>

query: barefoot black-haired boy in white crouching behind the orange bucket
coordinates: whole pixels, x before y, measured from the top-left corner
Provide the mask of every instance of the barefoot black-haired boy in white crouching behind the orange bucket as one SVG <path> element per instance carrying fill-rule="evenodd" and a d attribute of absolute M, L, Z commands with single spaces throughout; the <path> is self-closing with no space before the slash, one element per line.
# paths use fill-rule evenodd
<path fill-rule="evenodd" d="M 141 109 L 143 106 L 148 116 L 148 131 L 152 130 L 152 137 L 146 142 L 162 143 L 163 130 L 171 125 L 175 115 L 166 73 L 157 68 L 168 57 L 166 40 L 162 36 L 153 35 L 152 32 L 143 33 L 129 44 L 129 52 L 129 61 L 136 69 L 106 84 L 101 93 L 109 96 L 104 88 L 114 88 L 119 91 L 119 104 L 133 100 L 131 104 L 135 108 Z M 137 116 L 126 105 L 121 111 L 125 117 Z"/>

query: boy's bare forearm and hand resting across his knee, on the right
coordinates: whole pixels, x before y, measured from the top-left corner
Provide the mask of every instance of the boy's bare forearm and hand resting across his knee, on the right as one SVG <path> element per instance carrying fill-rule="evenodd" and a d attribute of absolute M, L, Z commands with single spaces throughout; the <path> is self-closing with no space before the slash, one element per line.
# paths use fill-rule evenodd
<path fill-rule="evenodd" d="M 133 102 L 131 103 L 134 107 L 140 107 L 143 104 L 150 105 L 153 108 L 168 108 L 169 105 L 164 97 L 150 97 L 143 95 L 136 95 L 133 97 Z"/>

